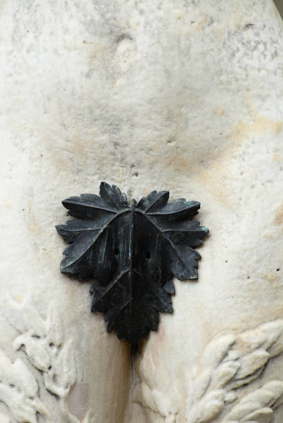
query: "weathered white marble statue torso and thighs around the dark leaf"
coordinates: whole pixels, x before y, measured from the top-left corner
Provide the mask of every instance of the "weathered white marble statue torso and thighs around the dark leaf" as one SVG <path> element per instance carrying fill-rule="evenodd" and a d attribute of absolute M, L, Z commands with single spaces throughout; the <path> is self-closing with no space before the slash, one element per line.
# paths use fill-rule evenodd
<path fill-rule="evenodd" d="M 1 422 L 281 423 L 273 3 L 1 0 L 0 10 Z M 175 313 L 135 371 L 89 312 L 88 284 L 59 273 L 61 199 L 97 193 L 101 180 L 135 197 L 200 200 L 211 229 L 199 281 L 175 281 Z"/>

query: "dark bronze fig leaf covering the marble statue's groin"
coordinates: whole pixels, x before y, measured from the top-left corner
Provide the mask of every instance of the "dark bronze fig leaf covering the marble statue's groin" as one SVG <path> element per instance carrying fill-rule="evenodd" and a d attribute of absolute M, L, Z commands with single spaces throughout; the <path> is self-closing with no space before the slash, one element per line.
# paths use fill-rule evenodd
<path fill-rule="evenodd" d="M 92 278 L 92 312 L 103 312 L 107 330 L 137 346 L 157 330 L 159 312 L 173 312 L 173 276 L 197 279 L 198 252 L 208 229 L 191 220 L 200 204 L 168 191 L 153 191 L 128 202 L 113 185 L 101 182 L 100 196 L 81 194 L 62 201 L 77 219 L 58 225 L 71 245 L 61 272 Z"/>

